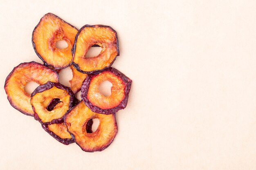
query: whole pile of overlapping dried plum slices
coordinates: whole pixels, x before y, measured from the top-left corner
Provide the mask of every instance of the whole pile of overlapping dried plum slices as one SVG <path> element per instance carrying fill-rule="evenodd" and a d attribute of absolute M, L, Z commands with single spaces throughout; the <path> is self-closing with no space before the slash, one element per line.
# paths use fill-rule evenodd
<path fill-rule="evenodd" d="M 64 40 L 67 48 L 58 49 Z M 76 142 L 86 152 L 107 148 L 117 135 L 115 113 L 128 102 L 132 80 L 110 67 L 119 55 L 117 33 L 110 26 L 85 25 L 80 30 L 47 13 L 32 34 L 32 44 L 44 64 L 21 63 L 7 76 L 4 89 L 11 106 L 38 120 L 52 137 L 68 145 Z M 99 55 L 85 57 L 92 46 Z M 58 72 L 70 66 L 70 88 L 59 83 Z M 99 92 L 103 81 L 112 83 L 111 95 Z M 31 95 L 28 82 L 40 84 Z M 81 90 L 81 98 L 75 93 Z M 92 119 L 99 126 L 92 132 Z"/>

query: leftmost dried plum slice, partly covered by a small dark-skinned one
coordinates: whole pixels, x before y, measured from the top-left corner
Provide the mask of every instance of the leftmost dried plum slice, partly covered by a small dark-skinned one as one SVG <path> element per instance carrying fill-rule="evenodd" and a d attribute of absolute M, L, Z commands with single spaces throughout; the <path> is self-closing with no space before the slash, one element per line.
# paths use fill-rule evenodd
<path fill-rule="evenodd" d="M 25 115 L 34 116 L 30 104 L 30 95 L 24 90 L 28 82 L 45 84 L 47 81 L 58 82 L 56 71 L 37 62 L 26 62 L 13 68 L 7 76 L 4 89 L 11 106 Z"/>

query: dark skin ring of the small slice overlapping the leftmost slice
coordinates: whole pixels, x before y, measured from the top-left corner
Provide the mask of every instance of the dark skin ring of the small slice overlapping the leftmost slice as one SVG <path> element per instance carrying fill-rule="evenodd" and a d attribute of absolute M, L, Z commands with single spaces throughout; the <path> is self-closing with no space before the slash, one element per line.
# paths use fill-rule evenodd
<path fill-rule="evenodd" d="M 43 84 L 43 85 L 40 85 L 38 86 L 34 91 L 33 93 L 31 93 L 31 97 L 33 97 L 36 93 L 40 93 L 40 92 L 43 92 L 43 91 L 46 91 L 46 90 L 49 90 L 50 88 L 52 87 L 56 87 L 56 88 L 59 88 L 59 89 L 63 89 L 65 91 L 67 91 L 67 93 L 70 95 L 70 103 L 69 103 L 69 110 L 75 106 L 77 104 L 77 99 L 74 95 L 74 93 L 72 92 L 72 90 L 67 87 L 67 86 L 64 86 L 60 83 L 54 83 L 54 82 L 50 82 L 48 81 L 47 83 Z M 35 112 L 35 108 L 32 106 L 32 109 L 34 110 L 34 118 L 39 121 L 41 124 L 43 124 L 42 120 L 39 118 L 39 116 L 37 115 L 37 113 Z M 68 111 L 68 110 L 67 110 Z M 49 123 L 50 124 L 56 124 L 58 122 L 60 122 L 61 120 L 63 120 L 63 117 L 61 118 L 58 118 L 58 119 L 53 119 L 52 121 L 50 121 Z M 48 122 L 45 122 L 45 123 L 48 123 Z"/>

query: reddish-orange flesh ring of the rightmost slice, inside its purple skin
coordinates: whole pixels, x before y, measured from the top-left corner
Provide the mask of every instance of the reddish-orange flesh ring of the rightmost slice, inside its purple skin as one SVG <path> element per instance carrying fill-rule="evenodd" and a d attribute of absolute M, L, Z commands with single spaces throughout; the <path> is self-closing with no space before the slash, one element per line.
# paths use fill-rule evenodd
<path fill-rule="evenodd" d="M 103 81 L 112 83 L 111 95 L 105 97 L 99 92 L 99 85 Z M 125 84 L 122 79 L 109 71 L 103 71 L 92 77 L 87 93 L 88 100 L 101 109 L 115 108 L 124 99 Z"/>

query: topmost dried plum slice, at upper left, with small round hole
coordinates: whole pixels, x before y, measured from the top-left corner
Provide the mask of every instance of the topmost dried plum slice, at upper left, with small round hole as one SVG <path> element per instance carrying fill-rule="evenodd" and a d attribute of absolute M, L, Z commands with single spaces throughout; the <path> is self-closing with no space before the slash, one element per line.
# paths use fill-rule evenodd
<path fill-rule="evenodd" d="M 55 69 L 66 68 L 71 64 L 71 49 L 78 30 L 58 16 L 47 13 L 41 18 L 32 34 L 32 44 L 38 57 L 45 65 Z M 64 40 L 67 48 L 58 49 L 56 42 Z"/>

